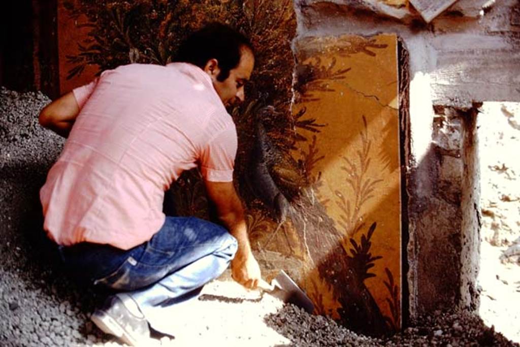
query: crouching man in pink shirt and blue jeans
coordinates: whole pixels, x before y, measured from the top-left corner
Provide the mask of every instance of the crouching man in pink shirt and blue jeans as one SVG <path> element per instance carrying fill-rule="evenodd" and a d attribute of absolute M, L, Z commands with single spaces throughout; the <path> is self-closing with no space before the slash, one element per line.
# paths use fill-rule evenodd
<path fill-rule="evenodd" d="M 119 291 L 92 319 L 128 344 L 149 336 L 155 310 L 197 297 L 229 263 L 247 288 L 261 277 L 233 187 L 237 133 L 226 111 L 243 101 L 253 65 L 250 42 L 214 23 L 181 45 L 177 62 L 104 71 L 40 114 L 68 137 L 40 191 L 44 229 L 81 280 Z M 226 228 L 162 212 L 164 191 L 197 167 Z"/>

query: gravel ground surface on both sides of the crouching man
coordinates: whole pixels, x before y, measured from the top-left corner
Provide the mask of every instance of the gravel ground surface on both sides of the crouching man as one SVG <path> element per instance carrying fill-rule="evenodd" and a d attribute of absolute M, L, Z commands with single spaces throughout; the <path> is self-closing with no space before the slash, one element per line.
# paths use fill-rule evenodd
<path fill-rule="evenodd" d="M 80 288 L 70 281 L 42 231 L 38 191 L 63 146 L 62 138 L 38 125 L 37 115 L 48 102 L 42 93 L 0 89 L 0 345 L 118 345 L 89 320 L 106 293 Z M 226 286 L 216 287 L 220 289 L 213 298 L 226 298 Z M 224 334 L 226 345 L 518 346 L 464 312 L 438 312 L 398 335 L 374 339 L 356 335 L 329 318 L 265 298 L 207 300 L 199 301 L 199 306 L 201 317 L 211 306 L 212 312 L 222 312 L 228 319 L 214 318 L 192 326 L 188 337 L 192 335 L 193 340 L 186 342 L 189 345 L 198 345 L 199 336 L 211 338 L 229 329 Z M 248 315 L 262 319 L 250 320 Z M 235 326 L 229 327 L 230 322 Z M 242 326 L 237 327 L 240 322 Z M 266 327 L 259 327 L 262 324 Z M 278 337 L 269 340 L 265 329 Z M 257 339 L 255 333 L 261 333 L 262 338 Z M 185 345 L 182 341 L 158 337 L 150 344 Z"/>

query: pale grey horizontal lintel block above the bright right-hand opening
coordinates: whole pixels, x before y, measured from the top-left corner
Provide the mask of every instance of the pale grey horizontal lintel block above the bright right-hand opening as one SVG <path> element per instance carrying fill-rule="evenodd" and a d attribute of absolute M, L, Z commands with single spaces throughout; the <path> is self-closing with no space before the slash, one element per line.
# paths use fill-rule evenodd
<path fill-rule="evenodd" d="M 520 42 L 500 35 L 456 33 L 433 38 L 435 104 L 468 108 L 473 101 L 520 101 Z M 490 87 L 492 86 L 492 87 Z"/>

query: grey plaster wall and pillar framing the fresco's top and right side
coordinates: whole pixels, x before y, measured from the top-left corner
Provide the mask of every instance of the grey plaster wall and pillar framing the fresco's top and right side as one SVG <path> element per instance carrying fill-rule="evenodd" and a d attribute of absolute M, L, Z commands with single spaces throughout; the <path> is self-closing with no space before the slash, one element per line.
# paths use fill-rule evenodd
<path fill-rule="evenodd" d="M 460 0 L 430 23 L 406 1 L 301 0 L 295 8 L 300 39 L 396 33 L 402 40 L 409 56 L 409 119 L 401 120 L 408 194 L 404 311 L 413 319 L 454 305 L 476 309 L 475 101 L 520 99 L 518 2 Z"/>

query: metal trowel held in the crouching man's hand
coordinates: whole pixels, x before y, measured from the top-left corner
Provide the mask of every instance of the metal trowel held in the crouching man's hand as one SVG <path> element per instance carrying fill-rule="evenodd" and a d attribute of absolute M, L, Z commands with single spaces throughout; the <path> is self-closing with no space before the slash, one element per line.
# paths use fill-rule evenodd
<path fill-rule="evenodd" d="M 257 287 L 285 303 L 291 303 L 304 309 L 307 313 L 314 311 L 314 304 L 307 294 L 283 270 L 270 284 L 263 279 L 259 280 Z"/>

